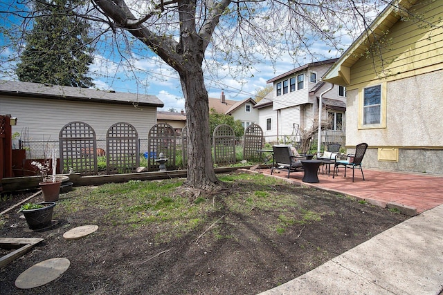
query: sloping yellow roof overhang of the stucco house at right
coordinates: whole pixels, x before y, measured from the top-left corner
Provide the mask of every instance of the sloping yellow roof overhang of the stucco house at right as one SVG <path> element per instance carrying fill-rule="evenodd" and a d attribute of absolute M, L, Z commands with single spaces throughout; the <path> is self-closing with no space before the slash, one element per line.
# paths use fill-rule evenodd
<path fill-rule="evenodd" d="M 360 59 L 368 49 L 367 42 L 374 36 L 383 35 L 401 19 L 404 12 L 413 6 L 417 0 L 392 0 L 388 6 L 372 21 L 370 27 L 347 48 L 345 53 L 323 75 L 323 81 L 338 85 L 348 85 L 351 82 L 350 68 Z"/>

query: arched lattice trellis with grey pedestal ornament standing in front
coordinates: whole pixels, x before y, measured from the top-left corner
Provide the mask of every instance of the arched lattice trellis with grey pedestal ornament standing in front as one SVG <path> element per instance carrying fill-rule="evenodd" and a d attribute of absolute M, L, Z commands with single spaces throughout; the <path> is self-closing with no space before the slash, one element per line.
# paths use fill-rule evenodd
<path fill-rule="evenodd" d="M 147 169 L 159 169 L 156 159 L 163 153 L 164 158 L 168 158 L 165 163 L 167 169 L 175 169 L 175 147 L 176 147 L 175 130 L 170 124 L 159 123 L 151 127 L 147 135 L 147 147 L 150 156 L 147 158 Z"/>

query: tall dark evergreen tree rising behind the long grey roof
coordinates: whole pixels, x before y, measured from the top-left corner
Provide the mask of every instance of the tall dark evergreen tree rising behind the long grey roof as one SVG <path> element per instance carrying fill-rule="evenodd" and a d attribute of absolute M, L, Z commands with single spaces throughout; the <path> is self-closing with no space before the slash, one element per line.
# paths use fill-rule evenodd
<path fill-rule="evenodd" d="M 89 23 L 73 13 L 82 0 L 35 1 L 35 23 L 15 73 L 22 82 L 90 87 Z"/>

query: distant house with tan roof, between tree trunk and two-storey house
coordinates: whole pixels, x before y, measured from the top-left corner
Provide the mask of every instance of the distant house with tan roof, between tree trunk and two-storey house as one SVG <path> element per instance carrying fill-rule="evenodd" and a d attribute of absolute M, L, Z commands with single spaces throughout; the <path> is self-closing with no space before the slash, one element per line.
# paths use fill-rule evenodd
<path fill-rule="evenodd" d="M 253 108 L 255 104 L 252 98 L 242 101 L 226 99 L 223 92 L 219 99 L 209 98 L 209 110 L 213 109 L 217 113 L 233 116 L 234 120 L 242 121 L 245 129 L 258 120 L 258 111 Z"/>

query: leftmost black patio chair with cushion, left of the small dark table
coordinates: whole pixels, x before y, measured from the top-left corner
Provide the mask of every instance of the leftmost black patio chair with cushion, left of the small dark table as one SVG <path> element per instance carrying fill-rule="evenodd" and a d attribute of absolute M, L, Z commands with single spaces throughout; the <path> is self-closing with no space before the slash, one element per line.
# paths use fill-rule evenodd
<path fill-rule="evenodd" d="M 273 146 L 273 163 L 271 174 L 274 170 L 283 170 L 289 173 L 304 171 L 302 169 L 302 162 L 300 160 L 306 160 L 306 157 L 299 155 L 292 155 L 290 146 Z"/>

